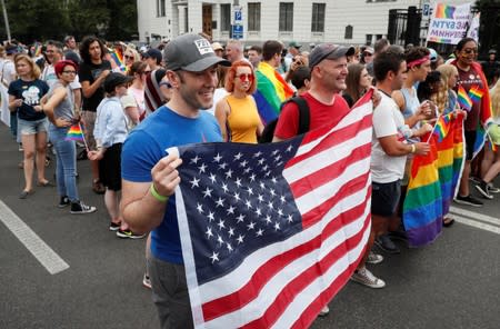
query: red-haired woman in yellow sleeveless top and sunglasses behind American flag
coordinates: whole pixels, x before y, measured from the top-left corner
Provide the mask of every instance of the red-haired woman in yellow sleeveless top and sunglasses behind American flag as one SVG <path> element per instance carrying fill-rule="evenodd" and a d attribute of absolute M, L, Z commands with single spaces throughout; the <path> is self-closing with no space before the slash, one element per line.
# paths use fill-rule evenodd
<path fill-rule="evenodd" d="M 262 133 L 263 124 L 252 97 L 256 87 L 251 64 L 233 62 L 226 76 L 224 88 L 229 94 L 216 106 L 216 118 L 226 141 L 257 143 Z"/>

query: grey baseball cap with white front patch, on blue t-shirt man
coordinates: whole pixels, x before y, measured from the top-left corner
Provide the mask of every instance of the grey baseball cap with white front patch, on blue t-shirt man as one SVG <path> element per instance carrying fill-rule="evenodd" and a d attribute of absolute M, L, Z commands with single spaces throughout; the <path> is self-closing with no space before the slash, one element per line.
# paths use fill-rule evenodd
<path fill-rule="evenodd" d="M 163 50 L 168 70 L 201 72 L 214 64 L 230 67 L 231 62 L 213 52 L 210 42 L 199 34 L 183 34 L 171 40 Z"/>

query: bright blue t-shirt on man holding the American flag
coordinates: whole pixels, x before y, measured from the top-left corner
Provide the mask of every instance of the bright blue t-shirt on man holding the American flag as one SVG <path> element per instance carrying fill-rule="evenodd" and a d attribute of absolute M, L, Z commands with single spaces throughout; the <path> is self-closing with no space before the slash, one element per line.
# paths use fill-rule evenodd
<path fill-rule="evenodd" d="M 186 118 L 161 107 L 136 127 L 123 143 L 121 177 L 128 181 L 150 182 L 151 169 L 167 156 L 166 149 L 188 143 L 222 141 L 216 118 L 200 111 Z M 176 198 L 169 198 L 161 225 L 151 233 L 151 252 L 173 263 L 183 263 L 177 222 Z"/>

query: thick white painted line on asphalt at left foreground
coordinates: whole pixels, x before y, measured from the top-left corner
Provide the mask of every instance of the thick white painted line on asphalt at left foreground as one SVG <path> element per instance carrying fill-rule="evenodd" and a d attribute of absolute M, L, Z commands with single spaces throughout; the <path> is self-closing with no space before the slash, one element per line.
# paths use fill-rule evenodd
<path fill-rule="evenodd" d="M 69 269 L 69 265 L 0 200 L 0 221 L 51 275 Z"/>

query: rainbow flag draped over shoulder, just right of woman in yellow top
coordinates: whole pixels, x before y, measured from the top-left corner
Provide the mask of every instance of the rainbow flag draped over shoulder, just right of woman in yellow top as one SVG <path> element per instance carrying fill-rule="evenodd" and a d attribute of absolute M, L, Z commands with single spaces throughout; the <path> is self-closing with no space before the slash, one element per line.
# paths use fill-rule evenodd
<path fill-rule="evenodd" d="M 259 116 L 266 124 L 278 118 L 281 103 L 293 96 L 293 90 L 287 81 L 267 62 L 261 62 L 256 71 L 257 91 L 253 98 L 259 109 Z"/>

